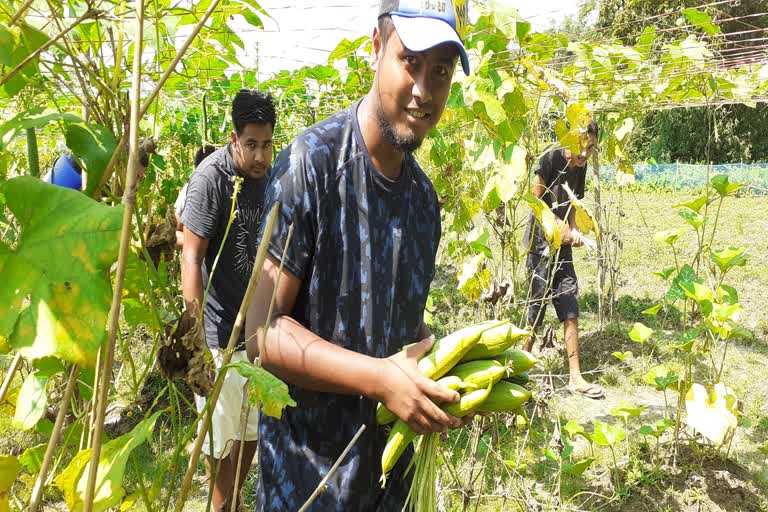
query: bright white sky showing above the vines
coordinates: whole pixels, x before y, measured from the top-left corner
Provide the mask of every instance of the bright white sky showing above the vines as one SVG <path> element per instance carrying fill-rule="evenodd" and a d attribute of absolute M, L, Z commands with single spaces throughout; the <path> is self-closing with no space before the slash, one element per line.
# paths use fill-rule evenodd
<path fill-rule="evenodd" d="M 520 16 L 543 30 L 552 21 L 576 14 L 576 0 L 497 0 L 520 12 Z M 233 28 L 245 44 L 239 55 L 244 65 L 259 69 L 264 79 L 282 69 L 325 63 L 342 39 L 370 35 L 378 10 L 376 0 L 260 0 L 271 16 L 264 30 L 253 30 L 235 20 Z M 470 8 L 470 21 L 471 18 Z"/>

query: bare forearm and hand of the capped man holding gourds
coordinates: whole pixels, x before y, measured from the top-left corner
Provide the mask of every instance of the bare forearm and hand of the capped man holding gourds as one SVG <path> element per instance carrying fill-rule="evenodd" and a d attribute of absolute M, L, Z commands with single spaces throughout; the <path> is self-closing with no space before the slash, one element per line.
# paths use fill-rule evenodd
<path fill-rule="evenodd" d="M 416 366 L 418 358 L 431 348 L 432 339 L 385 359 L 330 343 L 288 316 L 301 281 L 286 270 L 280 275 L 264 336 L 261 328 L 267 321 L 279 272 L 279 262 L 269 256 L 246 316 L 246 347 L 251 360 L 258 355 L 265 368 L 306 389 L 380 401 L 418 433 L 441 432 L 461 425 L 460 420 L 434 403 L 456 401 L 458 393 L 427 379 Z"/>

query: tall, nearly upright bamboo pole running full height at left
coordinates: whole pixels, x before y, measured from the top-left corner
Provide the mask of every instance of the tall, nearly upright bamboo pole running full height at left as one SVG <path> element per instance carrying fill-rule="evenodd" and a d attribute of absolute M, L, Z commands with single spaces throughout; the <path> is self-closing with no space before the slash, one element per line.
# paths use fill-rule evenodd
<path fill-rule="evenodd" d="M 109 335 L 104 349 L 104 365 L 99 379 L 99 389 L 94 389 L 96 398 L 96 423 L 94 425 L 93 442 L 91 446 L 91 461 L 88 466 L 88 482 L 85 488 L 84 512 L 93 511 L 93 499 L 96 489 L 99 458 L 101 457 L 101 442 L 104 434 L 104 413 L 107 408 L 109 386 L 112 382 L 112 364 L 115 356 L 115 339 L 117 338 L 118 322 L 120 320 L 120 303 L 123 295 L 125 267 L 128 261 L 129 245 L 131 242 L 131 224 L 133 208 L 136 205 L 136 176 L 141 165 L 139 157 L 139 102 L 141 101 L 141 50 L 144 37 L 144 0 L 136 0 L 136 33 L 134 36 L 133 52 L 133 83 L 131 101 L 130 139 L 131 150 L 128 154 L 128 177 L 123 192 L 123 224 L 120 233 L 120 253 L 117 261 L 115 289 L 112 295 L 112 307 L 109 312 Z M 98 371 L 98 368 L 97 368 Z"/>

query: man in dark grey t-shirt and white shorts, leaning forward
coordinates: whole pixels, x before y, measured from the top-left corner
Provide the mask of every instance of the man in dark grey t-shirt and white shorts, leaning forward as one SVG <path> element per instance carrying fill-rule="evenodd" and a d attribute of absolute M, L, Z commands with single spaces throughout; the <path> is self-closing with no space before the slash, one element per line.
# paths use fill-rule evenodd
<path fill-rule="evenodd" d="M 204 305 L 205 338 L 217 366 L 221 364 L 253 268 L 264 211 L 266 174 L 272 163 L 275 118 L 269 94 L 247 89 L 238 92 L 232 102 L 232 142 L 203 160 L 187 186 L 181 213 L 181 284 L 188 308 L 200 312 Z M 233 198 L 236 187 L 239 192 Z M 235 215 L 227 231 L 233 200 Z M 233 362 L 246 358 L 244 336 L 241 335 L 235 350 Z M 227 372 L 213 414 L 213 452 L 208 440 L 203 444 L 209 476 L 216 467 L 216 479 L 211 482 L 216 511 L 229 511 L 229 500 L 233 495 L 239 496 L 240 489 L 235 493 L 233 487 L 240 442 L 245 443 L 238 480 L 241 486 L 256 452 L 256 414 L 249 415 L 241 439 L 240 408 L 242 401 L 247 400 L 244 383 L 245 379 L 236 371 Z M 198 411 L 202 410 L 205 398 L 196 397 L 196 404 Z"/>

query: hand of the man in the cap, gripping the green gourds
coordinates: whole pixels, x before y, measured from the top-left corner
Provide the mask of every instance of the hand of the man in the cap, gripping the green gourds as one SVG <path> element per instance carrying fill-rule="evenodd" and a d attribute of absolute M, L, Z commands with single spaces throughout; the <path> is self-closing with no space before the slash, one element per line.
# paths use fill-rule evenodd
<path fill-rule="evenodd" d="M 436 405 L 455 402 L 459 394 L 419 372 L 418 360 L 435 342 L 434 336 L 423 339 L 406 350 L 381 360 L 376 395 L 395 416 L 408 424 L 417 434 L 445 432 L 463 422 L 446 414 Z"/>

